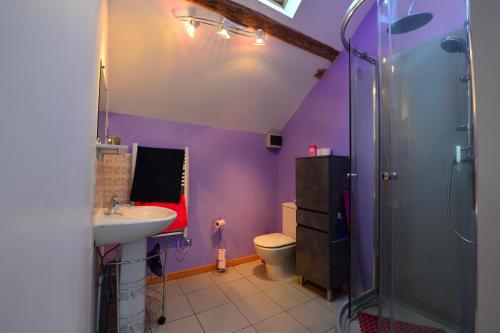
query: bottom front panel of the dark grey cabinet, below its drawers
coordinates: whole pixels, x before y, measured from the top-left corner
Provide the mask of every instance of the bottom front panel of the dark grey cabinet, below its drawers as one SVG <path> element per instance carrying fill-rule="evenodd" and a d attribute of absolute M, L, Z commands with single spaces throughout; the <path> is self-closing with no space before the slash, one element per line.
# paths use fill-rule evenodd
<path fill-rule="evenodd" d="M 330 288 L 330 240 L 328 234 L 297 226 L 297 274 L 318 286 Z"/>

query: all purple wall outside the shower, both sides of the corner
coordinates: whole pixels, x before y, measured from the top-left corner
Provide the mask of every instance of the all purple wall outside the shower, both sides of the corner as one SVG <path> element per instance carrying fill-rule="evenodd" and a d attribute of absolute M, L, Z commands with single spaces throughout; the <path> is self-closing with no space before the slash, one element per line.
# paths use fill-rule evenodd
<path fill-rule="evenodd" d="M 374 8 L 354 38 L 371 53 L 376 51 L 376 28 Z M 169 272 L 214 262 L 212 220 L 217 215 L 228 221 L 224 238 L 229 259 L 253 254 L 253 238 L 281 230 L 281 203 L 295 199 L 295 157 L 306 155 L 310 144 L 348 155 L 348 67 L 348 54 L 342 52 L 283 129 L 279 153 L 265 148 L 262 134 L 110 114 L 109 134 L 121 137 L 123 144 L 190 148 L 193 247 L 178 262 L 173 239 Z"/>

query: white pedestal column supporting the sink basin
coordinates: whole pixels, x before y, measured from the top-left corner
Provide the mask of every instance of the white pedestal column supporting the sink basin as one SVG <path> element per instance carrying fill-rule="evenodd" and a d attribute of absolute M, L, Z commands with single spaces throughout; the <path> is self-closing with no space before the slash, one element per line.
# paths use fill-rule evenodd
<path fill-rule="evenodd" d="M 139 260 L 138 262 L 120 265 L 119 276 L 119 320 L 120 333 L 143 333 L 146 317 L 145 275 L 147 255 L 147 239 L 122 245 L 122 262 Z"/>

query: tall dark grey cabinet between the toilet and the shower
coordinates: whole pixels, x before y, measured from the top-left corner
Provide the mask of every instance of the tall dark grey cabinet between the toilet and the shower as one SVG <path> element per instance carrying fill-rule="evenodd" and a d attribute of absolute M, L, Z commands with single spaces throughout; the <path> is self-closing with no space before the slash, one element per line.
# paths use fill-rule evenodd
<path fill-rule="evenodd" d="M 326 289 L 329 300 L 349 278 L 349 239 L 338 220 L 338 213 L 344 215 L 348 170 L 345 156 L 296 160 L 297 274 Z"/>

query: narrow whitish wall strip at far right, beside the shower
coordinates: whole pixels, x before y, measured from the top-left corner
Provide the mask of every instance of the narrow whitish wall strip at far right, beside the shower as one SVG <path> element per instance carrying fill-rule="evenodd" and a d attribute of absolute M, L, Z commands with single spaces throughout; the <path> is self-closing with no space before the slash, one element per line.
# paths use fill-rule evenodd
<path fill-rule="evenodd" d="M 500 2 L 471 1 L 478 145 L 479 333 L 500 327 Z"/>

